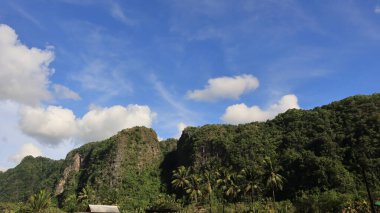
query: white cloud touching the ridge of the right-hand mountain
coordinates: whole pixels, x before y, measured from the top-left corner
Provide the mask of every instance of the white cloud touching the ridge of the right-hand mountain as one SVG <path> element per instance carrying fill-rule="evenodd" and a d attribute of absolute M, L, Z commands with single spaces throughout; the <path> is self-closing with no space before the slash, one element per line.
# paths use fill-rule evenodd
<path fill-rule="evenodd" d="M 276 104 L 271 105 L 266 110 L 262 110 L 258 106 L 247 107 L 243 103 L 229 106 L 222 116 L 222 120 L 230 124 L 266 121 L 288 109 L 299 108 L 297 96 L 289 94 L 283 96 Z"/>

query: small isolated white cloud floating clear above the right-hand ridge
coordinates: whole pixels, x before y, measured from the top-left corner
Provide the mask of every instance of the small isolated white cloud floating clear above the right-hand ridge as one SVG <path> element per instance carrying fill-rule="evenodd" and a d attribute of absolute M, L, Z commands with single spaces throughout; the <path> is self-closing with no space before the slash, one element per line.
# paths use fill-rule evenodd
<path fill-rule="evenodd" d="M 243 93 L 259 86 L 259 81 L 252 75 L 219 77 L 208 80 L 202 90 L 187 92 L 187 97 L 196 101 L 216 101 L 218 99 L 239 99 Z"/>

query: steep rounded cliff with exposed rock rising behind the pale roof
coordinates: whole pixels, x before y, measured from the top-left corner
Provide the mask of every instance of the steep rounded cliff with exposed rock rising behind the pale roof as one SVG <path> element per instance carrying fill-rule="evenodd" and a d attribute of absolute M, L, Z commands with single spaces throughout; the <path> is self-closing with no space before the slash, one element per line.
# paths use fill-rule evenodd
<path fill-rule="evenodd" d="M 107 140 L 71 151 L 55 186 L 55 194 L 65 200 L 67 195 L 78 194 L 90 186 L 103 200 L 111 199 L 107 196 L 115 193 L 137 200 L 145 181 L 153 184 L 149 186 L 153 196 L 159 192 L 161 159 L 160 143 L 152 129 L 122 130 Z"/>

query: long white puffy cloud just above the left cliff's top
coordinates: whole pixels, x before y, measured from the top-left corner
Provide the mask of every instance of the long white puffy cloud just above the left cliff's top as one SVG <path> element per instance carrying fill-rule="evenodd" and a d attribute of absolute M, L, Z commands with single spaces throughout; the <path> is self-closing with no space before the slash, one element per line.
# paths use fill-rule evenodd
<path fill-rule="evenodd" d="M 133 126 L 150 127 L 155 116 L 148 106 L 140 105 L 94 107 L 82 118 L 76 118 L 70 109 L 62 107 L 23 107 L 20 127 L 24 133 L 45 144 L 57 145 L 67 139 L 102 140 Z"/>

